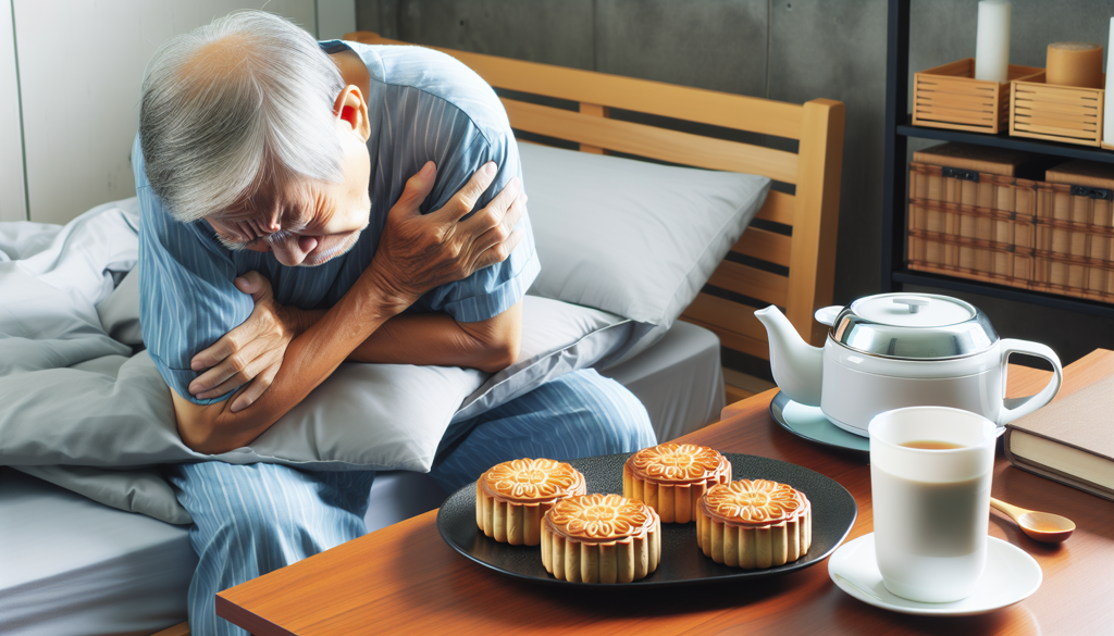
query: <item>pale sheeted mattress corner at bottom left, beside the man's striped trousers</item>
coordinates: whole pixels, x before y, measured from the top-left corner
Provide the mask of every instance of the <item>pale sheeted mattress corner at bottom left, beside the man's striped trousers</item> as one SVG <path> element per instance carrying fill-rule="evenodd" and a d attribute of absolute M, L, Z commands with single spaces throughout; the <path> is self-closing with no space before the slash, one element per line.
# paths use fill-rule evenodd
<path fill-rule="evenodd" d="M 0 468 L 0 634 L 153 634 L 186 619 L 185 526 Z"/>

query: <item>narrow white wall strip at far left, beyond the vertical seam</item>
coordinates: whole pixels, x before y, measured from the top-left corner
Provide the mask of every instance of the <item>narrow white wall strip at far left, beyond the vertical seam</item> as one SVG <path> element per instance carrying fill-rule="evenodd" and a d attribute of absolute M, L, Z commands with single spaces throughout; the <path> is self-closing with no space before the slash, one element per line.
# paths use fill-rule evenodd
<path fill-rule="evenodd" d="M 0 221 L 27 221 L 11 0 L 0 0 Z"/>

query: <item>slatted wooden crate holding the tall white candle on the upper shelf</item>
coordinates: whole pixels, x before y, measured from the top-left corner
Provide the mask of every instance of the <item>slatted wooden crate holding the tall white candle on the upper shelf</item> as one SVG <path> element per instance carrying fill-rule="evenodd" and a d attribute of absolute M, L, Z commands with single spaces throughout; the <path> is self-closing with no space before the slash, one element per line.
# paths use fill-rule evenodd
<path fill-rule="evenodd" d="M 1044 72 L 1009 65 L 1009 80 Z M 1009 82 L 975 79 L 975 58 L 913 74 L 912 124 L 997 135 L 1009 123 Z"/>

